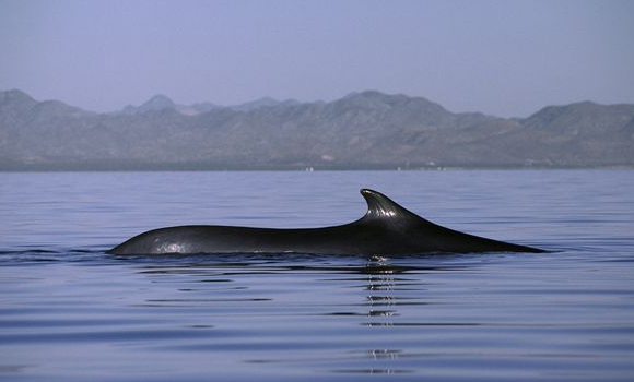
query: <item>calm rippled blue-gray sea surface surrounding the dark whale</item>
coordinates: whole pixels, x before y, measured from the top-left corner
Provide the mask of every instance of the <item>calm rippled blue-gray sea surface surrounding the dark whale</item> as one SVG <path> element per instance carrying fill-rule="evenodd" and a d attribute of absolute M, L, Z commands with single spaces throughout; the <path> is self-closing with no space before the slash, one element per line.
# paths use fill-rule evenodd
<path fill-rule="evenodd" d="M 161 226 L 347 223 L 364 187 L 553 252 L 104 254 Z M 0 174 L 0 380 L 632 381 L 633 191 L 627 170 Z"/>

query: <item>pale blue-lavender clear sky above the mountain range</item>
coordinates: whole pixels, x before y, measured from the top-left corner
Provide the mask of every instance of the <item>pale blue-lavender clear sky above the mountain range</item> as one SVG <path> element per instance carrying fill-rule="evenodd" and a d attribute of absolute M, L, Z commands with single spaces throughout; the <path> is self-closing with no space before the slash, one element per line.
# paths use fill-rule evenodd
<path fill-rule="evenodd" d="M 11 88 L 94 111 L 364 89 L 501 117 L 634 103 L 634 1 L 0 0 Z"/>

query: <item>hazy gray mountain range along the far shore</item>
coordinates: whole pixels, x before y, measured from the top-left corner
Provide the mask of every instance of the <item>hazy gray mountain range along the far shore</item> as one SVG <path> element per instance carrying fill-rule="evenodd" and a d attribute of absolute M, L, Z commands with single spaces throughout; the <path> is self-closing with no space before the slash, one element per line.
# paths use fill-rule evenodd
<path fill-rule="evenodd" d="M 634 166 L 634 105 L 548 106 L 525 119 L 353 93 L 222 107 L 157 95 L 96 114 L 0 92 L 0 170 Z"/>

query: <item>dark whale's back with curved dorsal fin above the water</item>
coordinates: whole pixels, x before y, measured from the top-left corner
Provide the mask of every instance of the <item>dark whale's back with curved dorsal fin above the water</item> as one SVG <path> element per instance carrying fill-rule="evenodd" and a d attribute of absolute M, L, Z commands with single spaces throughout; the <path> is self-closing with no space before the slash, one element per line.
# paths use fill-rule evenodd
<path fill-rule="evenodd" d="M 362 189 L 367 212 L 360 219 L 319 228 L 190 225 L 153 229 L 114 247 L 117 255 L 302 253 L 415 255 L 425 253 L 530 252 L 544 250 L 469 235 L 436 225 L 380 192 Z"/>

